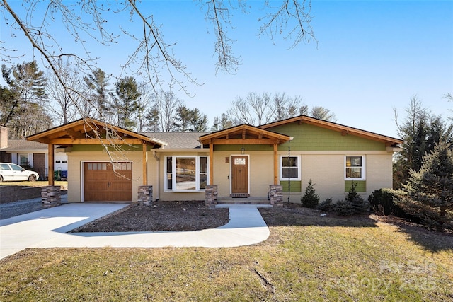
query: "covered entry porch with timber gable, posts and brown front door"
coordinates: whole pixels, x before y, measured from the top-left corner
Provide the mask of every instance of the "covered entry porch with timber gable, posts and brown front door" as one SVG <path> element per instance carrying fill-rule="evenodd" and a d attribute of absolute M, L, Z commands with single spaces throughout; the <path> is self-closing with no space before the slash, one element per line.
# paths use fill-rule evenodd
<path fill-rule="evenodd" d="M 200 137 L 210 150 L 209 183 L 219 199 L 267 199 L 270 185 L 279 185 L 278 146 L 290 139 L 248 124 Z"/>

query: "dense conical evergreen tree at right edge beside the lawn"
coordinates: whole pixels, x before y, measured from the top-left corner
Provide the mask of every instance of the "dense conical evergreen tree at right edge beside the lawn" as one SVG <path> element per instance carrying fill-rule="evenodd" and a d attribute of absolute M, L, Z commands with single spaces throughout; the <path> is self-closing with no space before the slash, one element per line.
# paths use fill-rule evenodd
<path fill-rule="evenodd" d="M 453 152 L 452 144 L 440 141 L 423 156 L 420 170 L 411 170 L 398 205 L 427 226 L 453 228 Z"/>

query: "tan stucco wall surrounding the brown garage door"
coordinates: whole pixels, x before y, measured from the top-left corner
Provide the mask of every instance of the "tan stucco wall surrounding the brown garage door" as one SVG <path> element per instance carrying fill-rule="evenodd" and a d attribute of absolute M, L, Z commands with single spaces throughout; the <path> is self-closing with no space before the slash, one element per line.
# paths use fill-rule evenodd
<path fill-rule="evenodd" d="M 107 161 L 111 159 L 105 152 L 69 152 L 68 155 L 68 202 L 81 202 L 83 200 L 82 190 L 82 165 L 84 161 Z M 132 161 L 132 202 L 137 202 L 137 191 L 139 185 L 143 185 L 142 174 L 142 152 L 125 152 L 122 154 L 112 153 L 114 161 Z M 152 156 L 148 156 L 148 165 L 155 161 Z M 151 172 L 151 173 L 150 173 Z M 148 170 L 148 185 L 155 185 L 155 174 Z"/>

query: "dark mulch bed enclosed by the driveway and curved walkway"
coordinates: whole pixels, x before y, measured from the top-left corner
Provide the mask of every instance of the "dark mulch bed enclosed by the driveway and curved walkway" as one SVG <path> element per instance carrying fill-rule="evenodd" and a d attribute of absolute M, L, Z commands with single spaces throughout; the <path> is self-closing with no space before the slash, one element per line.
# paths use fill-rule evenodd
<path fill-rule="evenodd" d="M 229 221 L 228 209 L 210 209 L 205 202 L 131 204 L 71 232 L 197 231 L 217 228 Z"/>

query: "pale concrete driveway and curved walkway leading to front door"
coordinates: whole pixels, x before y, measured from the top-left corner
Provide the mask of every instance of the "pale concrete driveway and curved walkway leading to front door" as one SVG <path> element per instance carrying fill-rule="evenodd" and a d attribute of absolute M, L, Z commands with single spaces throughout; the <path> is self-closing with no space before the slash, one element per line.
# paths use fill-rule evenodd
<path fill-rule="evenodd" d="M 224 248 L 266 240 L 269 229 L 257 207 L 265 204 L 219 204 L 229 208 L 229 223 L 219 228 L 183 232 L 67 233 L 127 204 L 63 204 L 0 221 L 0 259 L 25 248 Z"/>

